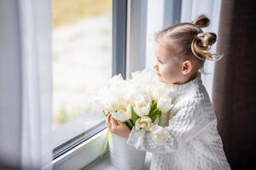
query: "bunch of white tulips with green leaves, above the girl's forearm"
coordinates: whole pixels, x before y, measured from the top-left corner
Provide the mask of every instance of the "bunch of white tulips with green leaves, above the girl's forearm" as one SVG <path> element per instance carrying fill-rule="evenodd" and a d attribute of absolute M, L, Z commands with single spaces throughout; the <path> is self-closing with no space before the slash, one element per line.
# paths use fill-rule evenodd
<path fill-rule="evenodd" d="M 130 129 L 149 132 L 159 123 L 160 116 L 172 108 L 172 92 L 145 69 L 131 73 L 131 79 L 114 76 L 107 87 L 100 89 L 95 102 L 105 115 L 110 112 Z"/>

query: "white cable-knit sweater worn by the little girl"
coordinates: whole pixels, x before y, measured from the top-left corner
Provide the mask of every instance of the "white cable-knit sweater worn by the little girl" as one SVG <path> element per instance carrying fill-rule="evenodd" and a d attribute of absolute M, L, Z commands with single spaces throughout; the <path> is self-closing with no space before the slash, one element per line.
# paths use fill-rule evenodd
<path fill-rule="evenodd" d="M 173 85 L 172 90 L 174 107 L 160 118 L 168 132 L 164 143 L 155 144 L 150 133 L 135 128 L 127 143 L 153 153 L 150 170 L 230 169 L 201 72 L 190 82 Z"/>

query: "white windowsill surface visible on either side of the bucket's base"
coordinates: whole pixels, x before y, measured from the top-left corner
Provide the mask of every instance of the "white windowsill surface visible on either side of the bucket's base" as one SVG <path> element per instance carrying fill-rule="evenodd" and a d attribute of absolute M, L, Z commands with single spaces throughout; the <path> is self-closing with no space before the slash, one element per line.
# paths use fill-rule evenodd
<path fill-rule="evenodd" d="M 150 162 L 151 162 L 151 157 L 152 154 L 147 152 L 146 154 L 146 159 L 145 159 L 145 167 L 144 170 L 148 170 L 149 166 L 150 166 Z M 109 154 L 104 156 L 102 158 L 102 161 L 98 161 L 95 164 L 93 164 L 91 167 L 89 168 L 85 168 L 85 169 L 90 169 L 90 170 L 116 170 L 112 165 L 111 165 L 111 161 L 110 161 L 110 156 Z M 85 170 L 84 169 L 84 170 Z"/>

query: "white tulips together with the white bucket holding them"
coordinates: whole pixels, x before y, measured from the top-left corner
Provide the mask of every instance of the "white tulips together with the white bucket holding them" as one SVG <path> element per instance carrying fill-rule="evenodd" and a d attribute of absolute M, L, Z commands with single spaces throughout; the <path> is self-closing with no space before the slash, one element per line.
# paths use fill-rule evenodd
<path fill-rule="evenodd" d="M 172 109 L 172 93 L 172 88 L 159 82 L 153 71 L 145 69 L 131 73 L 131 79 L 124 80 L 120 74 L 113 76 L 108 85 L 99 90 L 93 103 L 105 116 L 110 113 L 114 119 L 125 122 L 130 129 L 135 127 L 144 129 L 147 133 L 151 132 L 154 142 L 162 144 L 166 131 L 159 124 L 165 124 L 167 113 Z M 106 135 L 102 156 L 107 150 L 109 134 L 108 132 Z M 114 167 L 143 167 L 144 152 L 131 148 L 117 136 L 114 138 L 111 135 L 110 140 L 109 149 Z M 122 149 L 117 151 L 117 148 Z"/>

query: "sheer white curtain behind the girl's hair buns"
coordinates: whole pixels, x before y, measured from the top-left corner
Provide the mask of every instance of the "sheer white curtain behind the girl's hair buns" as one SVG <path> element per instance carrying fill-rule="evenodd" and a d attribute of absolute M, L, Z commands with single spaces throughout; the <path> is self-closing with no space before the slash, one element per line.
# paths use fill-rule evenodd
<path fill-rule="evenodd" d="M 191 22 L 200 14 L 206 14 L 211 20 L 210 26 L 203 28 L 203 31 L 211 31 L 217 34 L 218 38 L 218 18 L 220 12 L 221 0 L 183 0 L 181 10 L 181 22 Z M 212 47 L 212 53 L 216 52 L 216 44 Z M 202 82 L 207 88 L 207 92 L 212 99 L 212 81 L 214 76 L 215 63 L 209 60 L 205 61 L 204 71 L 207 73 L 202 75 Z"/>

